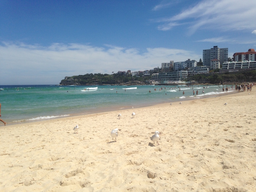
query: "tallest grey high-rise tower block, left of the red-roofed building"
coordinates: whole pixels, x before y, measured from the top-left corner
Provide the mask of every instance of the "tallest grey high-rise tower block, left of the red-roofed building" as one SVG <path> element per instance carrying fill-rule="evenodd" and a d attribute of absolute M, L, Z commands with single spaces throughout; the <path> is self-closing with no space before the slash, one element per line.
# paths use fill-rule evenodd
<path fill-rule="evenodd" d="M 213 46 L 211 49 L 203 50 L 203 65 L 211 67 L 211 61 L 217 59 L 220 64 L 228 61 L 228 48 L 218 48 Z"/>

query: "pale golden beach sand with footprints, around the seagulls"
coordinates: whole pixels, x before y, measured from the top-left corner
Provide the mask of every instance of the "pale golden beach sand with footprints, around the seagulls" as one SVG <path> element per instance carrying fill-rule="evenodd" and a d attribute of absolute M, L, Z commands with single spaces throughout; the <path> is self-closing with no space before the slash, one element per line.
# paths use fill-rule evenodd
<path fill-rule="evenodd" d="M 0 191 L 255 191 L 254 89 L 1 126 Z"/>

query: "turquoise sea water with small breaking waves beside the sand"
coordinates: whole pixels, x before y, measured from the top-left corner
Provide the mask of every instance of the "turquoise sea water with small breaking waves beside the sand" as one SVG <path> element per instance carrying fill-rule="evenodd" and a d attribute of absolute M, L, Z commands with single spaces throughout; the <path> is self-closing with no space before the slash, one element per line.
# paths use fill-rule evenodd
<path fill-rule="evenodd" d="M 235 91 L 226 86 L 228 92 Z M 0 90 L 1 118 L 8 124 L 227 94 L 219 85 L 0 85 Z M 193 90 L 198 90 L 197 96 Z"/>

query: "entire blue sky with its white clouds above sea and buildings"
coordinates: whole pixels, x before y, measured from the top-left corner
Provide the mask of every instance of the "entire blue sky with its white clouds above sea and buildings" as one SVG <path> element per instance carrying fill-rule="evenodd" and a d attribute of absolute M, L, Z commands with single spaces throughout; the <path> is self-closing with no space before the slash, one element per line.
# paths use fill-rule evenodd
<path fill-rule="evenodd" d="M 255 0 L 0 1 L 0 85 L 256 49 Z"/>

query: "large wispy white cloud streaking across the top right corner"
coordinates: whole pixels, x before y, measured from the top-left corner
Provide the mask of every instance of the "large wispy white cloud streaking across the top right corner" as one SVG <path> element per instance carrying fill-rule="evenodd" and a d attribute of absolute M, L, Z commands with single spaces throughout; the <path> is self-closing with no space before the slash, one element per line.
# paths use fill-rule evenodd
<path fill-rule="evenodd" d="M 223 31 L 251 30 L 256 26 L 256 20 L 252 17 L 255 13 L 255 0 L 235 1 L 235 3 L 234 0 L 203 0 L 168 19 L 159 20 L 158 22 L 163 22 L 159 30 L 169 30 L 182 23 L 189 23 L 191 34 L 198 28 Z"/>

